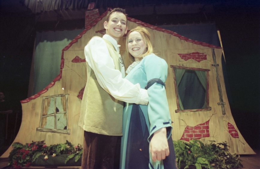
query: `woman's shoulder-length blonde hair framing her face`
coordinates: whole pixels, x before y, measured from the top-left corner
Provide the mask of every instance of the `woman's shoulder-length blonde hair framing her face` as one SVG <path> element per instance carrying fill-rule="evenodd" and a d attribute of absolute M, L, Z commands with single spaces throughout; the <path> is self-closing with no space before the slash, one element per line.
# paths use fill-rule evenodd
<path fill-rule="evenodd" d="M 150 53 L 153 52 L 152 43 L 150 40 L 151 35 L 149 31 L 147 31 L 147 29 L 144 27 L 137 26 L 136 28 L 131 29 L 131 31 L 129 31 L 126 37 L 126 52 L 128 53 L 128 57 L 131 62 L 134 62 L 134 57 L 129 53 L 127 45 L 128 45 L 129 34 L 133 31 L 137 31 L 141 34 L 141 36 L 143 37 L 144 44 L 145 46 L 147 46 L 147 51 L 141 56 L 145 57 L 146 55 L 149 55 Z"/>

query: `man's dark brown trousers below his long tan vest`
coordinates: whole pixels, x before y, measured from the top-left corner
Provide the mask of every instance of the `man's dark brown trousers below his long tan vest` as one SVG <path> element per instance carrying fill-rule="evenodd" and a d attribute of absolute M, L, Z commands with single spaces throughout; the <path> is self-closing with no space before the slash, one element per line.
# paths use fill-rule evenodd
<path fill-rule="evenodd" d="M 121 136 L 84 131 L 81 169 L 117 169 L 120 162 Z"/>

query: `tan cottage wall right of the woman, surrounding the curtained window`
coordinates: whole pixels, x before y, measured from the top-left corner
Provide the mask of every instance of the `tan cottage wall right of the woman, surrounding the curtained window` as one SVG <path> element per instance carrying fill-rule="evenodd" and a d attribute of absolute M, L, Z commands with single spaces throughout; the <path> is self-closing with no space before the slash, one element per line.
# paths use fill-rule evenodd
<path fill-rule="evenodd" d="M 129 29 L 135 28 L 136 26 L 147 25 L 135 19 L 130 20 L 133 22 L 128 23 Z M 155 26 L 152 25 L 148 25 L 147 29 L 151 34 L 154 52 L 168 63 L 166 92 L 172 121 L 174 122 L 172 132 L 173 140 L 189 141 L 190 139 L 200 138 L 204 143 L 210 143 L 210 141 L 216 141 L 216 143 L 227 141 L 232 153 L 255 154 L 239 132 L 230 111 L 221 64 L 223 49 L 217 46 L 189 40 L 188 38 L 181 37 L 175 32 L 155 28 Z M 212 49 L 214 49 L 216 56 L 215 62 Z M 181 58 L 181 54 L 190 54 L 187 56 L 190 59 Z M 192 54 L 197 55 L 197 57 L 195 56 L 194 58 L 195 60 L 191 59 L 194 57 Z M 202 54 L 206 55 L 206 59 L 198 58 L 199 55 Z M 126 54 L 124 53 L 124 56 L 125 55 Z M 126 58 L 124 60 L 126 60 Z M 125 61 L 125 63 L 127 62 Z M 214 64 L 217 64 L 217 66 L 213 66 Z M 175 110 L 177 110 L 177 102 L 171 65 L 210 70 L 208 72 L 208 101 L 211 110 L 175 112 Z M 217 86 L 217 79 L 219 79 L 221 92 L 219 92 Z M 224 115 L 221 105 L 218 105 L 220 102 L 220 94 L 222 95 L 225 104 L 223 106 Z"/>

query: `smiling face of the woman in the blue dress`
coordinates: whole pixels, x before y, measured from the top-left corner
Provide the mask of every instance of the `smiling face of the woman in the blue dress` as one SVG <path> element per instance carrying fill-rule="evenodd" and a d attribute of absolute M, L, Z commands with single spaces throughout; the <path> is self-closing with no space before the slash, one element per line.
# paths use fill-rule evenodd
<path fill-rule="evenodd" d="M 129 53 L 134 57 L 134 61 L 141 61 L 143 59 L 141 55 L 147 51 L 143 37 L 137 31 L 133 31 L 129 34 L 127 47 Z"/>

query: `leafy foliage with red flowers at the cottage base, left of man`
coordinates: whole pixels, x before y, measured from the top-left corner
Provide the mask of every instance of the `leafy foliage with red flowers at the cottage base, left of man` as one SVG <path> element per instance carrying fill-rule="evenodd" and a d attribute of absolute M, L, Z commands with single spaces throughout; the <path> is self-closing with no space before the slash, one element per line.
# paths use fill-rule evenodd
<path fill-rule="evenodd" d="M 52 157 L 68 154 L 69 156 L 65 160 L 65 164 L 69 159 L 75 157 L 75 162 L 77 162 L 82 156 L 82 146 L 78 144 L 74 147 L 72 143 L 66 141 L 64 144 L 54 144 L 50 146 L 46 146 L 44 141 L 32 141 L 32 143 L 13 143 L 13 150 L 9 155 L 9 166 L 13 168 L 21 168 L 21 167 L 29 167 L 31 163 L 34 162 L 41 154 L 47 156 L 44 158 L 48 159 L 48 155 Z"/>

